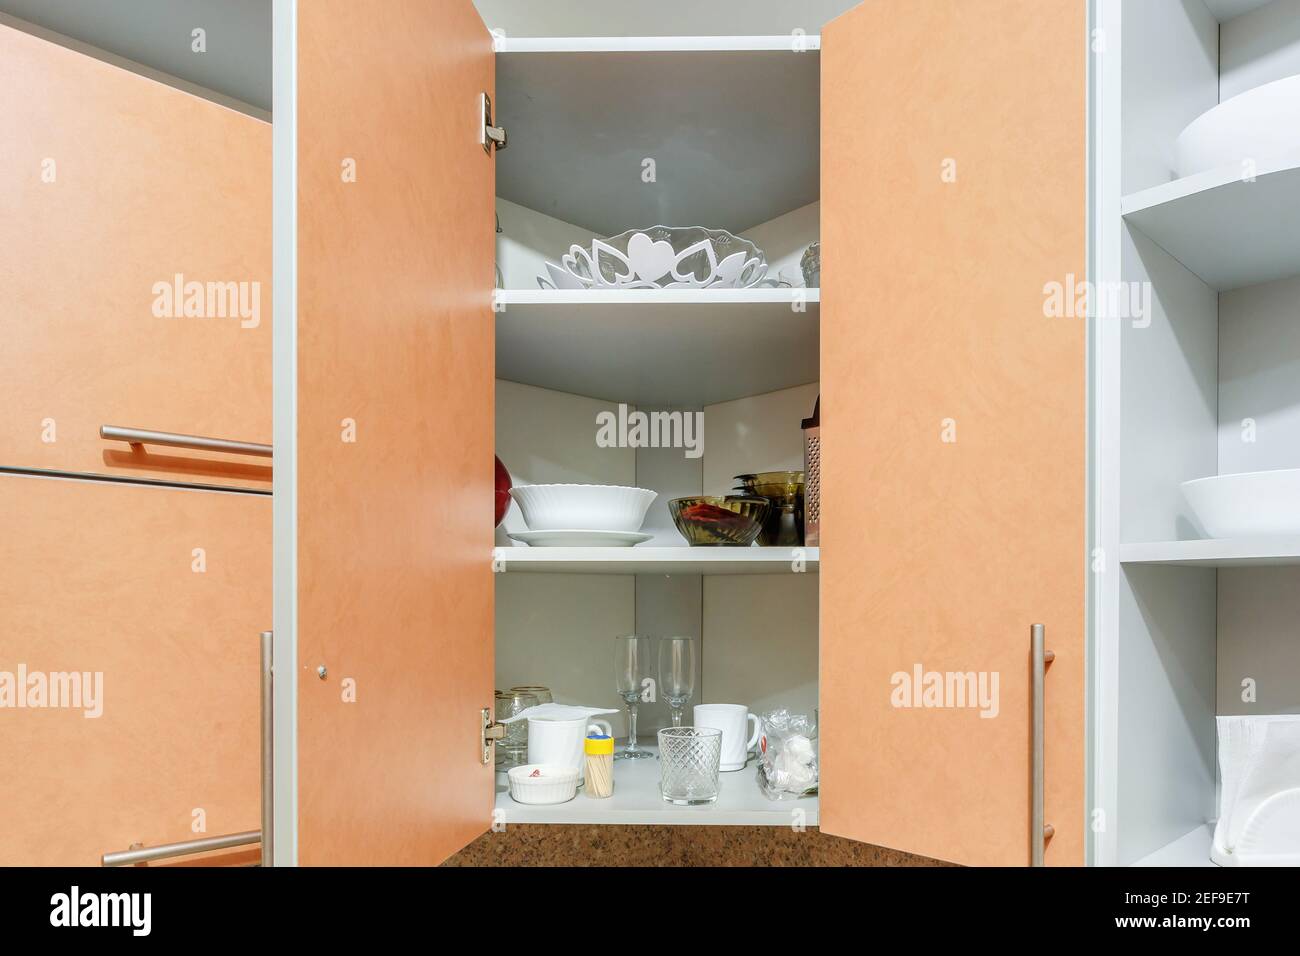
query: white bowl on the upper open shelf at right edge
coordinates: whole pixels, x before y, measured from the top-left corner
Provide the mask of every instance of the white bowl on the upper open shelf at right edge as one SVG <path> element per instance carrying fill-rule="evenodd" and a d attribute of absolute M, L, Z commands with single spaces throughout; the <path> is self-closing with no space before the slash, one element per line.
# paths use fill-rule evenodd
<path fill-rule="evenodd" d="M 1178 137 L 1174 172 L 1182 178 L 1235 165 L 1244 173 L 1247 160 L 1261 170 L 1300 163 L 1300 75 L 1247 90 L 1196 117 Z"/>

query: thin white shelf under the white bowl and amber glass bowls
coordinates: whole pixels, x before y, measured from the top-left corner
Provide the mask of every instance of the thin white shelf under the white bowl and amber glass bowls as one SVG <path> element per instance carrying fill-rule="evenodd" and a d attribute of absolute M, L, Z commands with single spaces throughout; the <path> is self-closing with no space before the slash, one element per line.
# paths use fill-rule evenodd
<path fill-rule="evenodd" d="M 816 574 L 820 549 L 802 548 L 497 548 L 498 574 L 515 571 L 611 575 Z"/>

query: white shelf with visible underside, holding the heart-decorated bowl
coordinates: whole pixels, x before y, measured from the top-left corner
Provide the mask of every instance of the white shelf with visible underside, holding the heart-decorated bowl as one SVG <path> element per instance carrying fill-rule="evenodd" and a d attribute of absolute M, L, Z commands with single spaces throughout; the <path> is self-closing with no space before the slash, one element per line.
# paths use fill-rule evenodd
<path fill-rule="evenodd" d="M 500 290 L 497 300 L 497 377 L 523 385 L 698 408 L 819 377 L 816 289 Z"/>

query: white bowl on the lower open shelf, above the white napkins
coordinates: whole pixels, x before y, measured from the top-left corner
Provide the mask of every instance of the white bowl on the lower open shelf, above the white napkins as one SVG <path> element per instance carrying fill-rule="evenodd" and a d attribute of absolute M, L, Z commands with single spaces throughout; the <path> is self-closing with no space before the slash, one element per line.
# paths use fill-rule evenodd
<path fill-rule="evenodd" d="M 1300 468 L 1218 475 L 1182 488 L 1209 537 L 1300 535 Z"/>

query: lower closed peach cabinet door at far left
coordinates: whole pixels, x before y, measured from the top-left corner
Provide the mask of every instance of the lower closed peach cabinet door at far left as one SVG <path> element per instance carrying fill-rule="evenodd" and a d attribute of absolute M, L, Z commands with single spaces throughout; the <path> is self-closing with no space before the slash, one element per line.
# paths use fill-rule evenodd
<path fill-rule="evenodd" d="M 270 498 L 0 475 L 0 865 L 257 830 Z"/>

